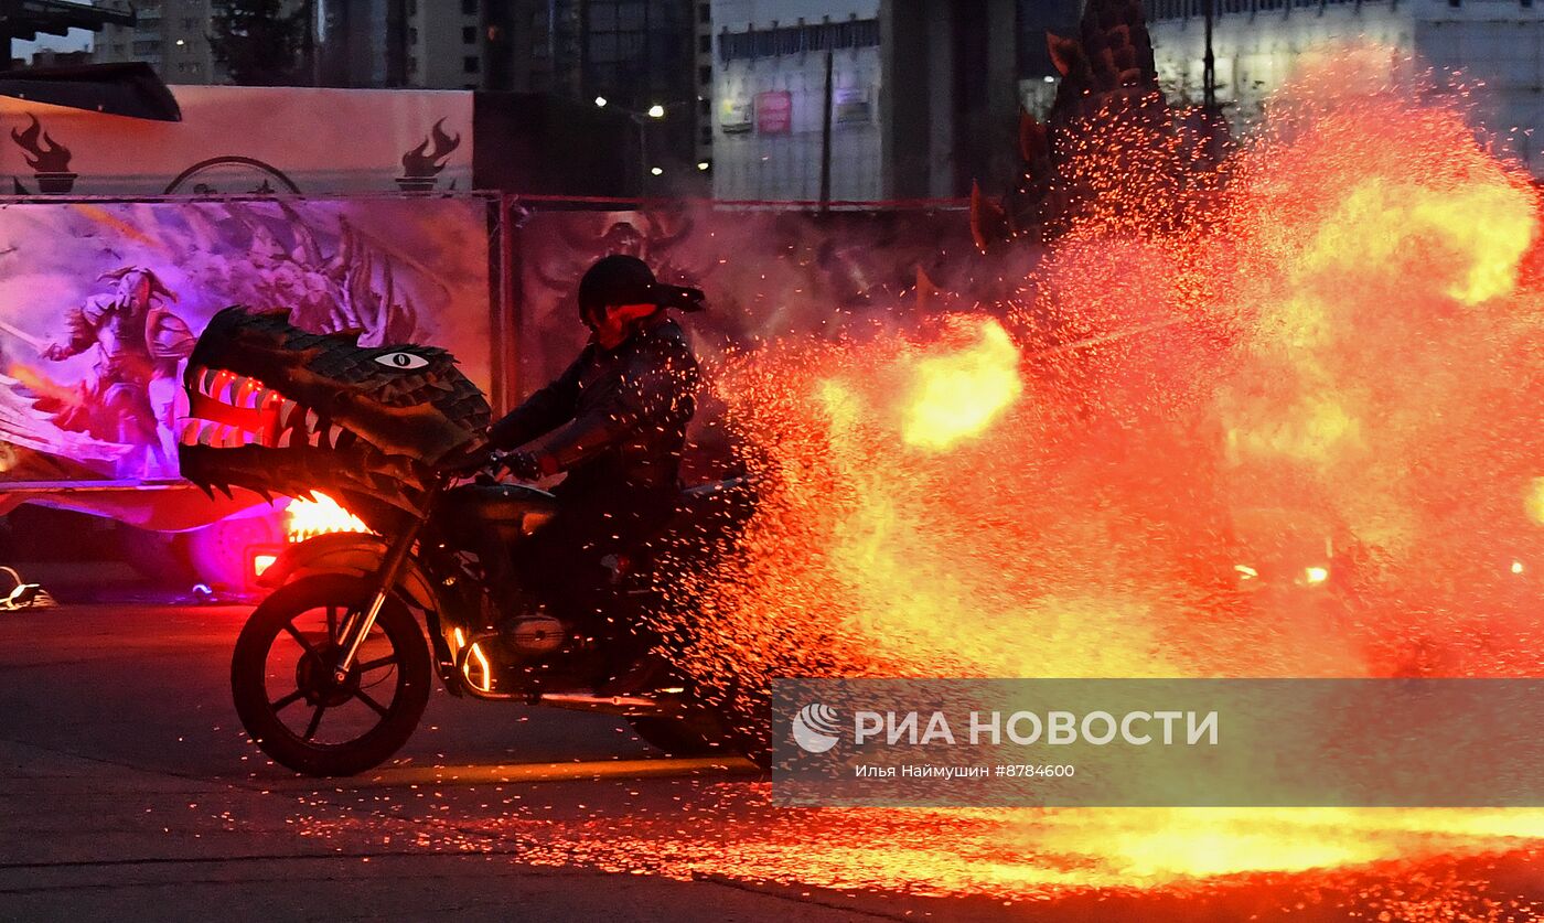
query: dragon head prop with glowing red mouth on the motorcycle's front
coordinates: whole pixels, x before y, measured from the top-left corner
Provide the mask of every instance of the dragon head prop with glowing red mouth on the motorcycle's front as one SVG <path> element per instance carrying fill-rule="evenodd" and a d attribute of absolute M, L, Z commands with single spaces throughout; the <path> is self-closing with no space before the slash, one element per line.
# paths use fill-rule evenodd
<path fill-rule="evenodd" d="M 289 312 L 221 310 L 182 383 L 185 478 L 205 491 L 323 491 L 372 528 L 415 511 L 435 469 L 483 446 L 491 417 L 443 349 L 364 347 L 357 333 L 301 330 Z"/>

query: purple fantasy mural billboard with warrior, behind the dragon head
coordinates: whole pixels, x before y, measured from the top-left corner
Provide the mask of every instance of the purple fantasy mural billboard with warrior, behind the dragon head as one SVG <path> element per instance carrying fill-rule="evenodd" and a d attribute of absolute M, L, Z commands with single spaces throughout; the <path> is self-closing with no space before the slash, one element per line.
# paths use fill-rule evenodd
<path fill-rule="evenodd" d="M 184 361 L 230 304 L 493 378 L 485 198 L 0 205 L 0 491 L 176 477 Z"/>

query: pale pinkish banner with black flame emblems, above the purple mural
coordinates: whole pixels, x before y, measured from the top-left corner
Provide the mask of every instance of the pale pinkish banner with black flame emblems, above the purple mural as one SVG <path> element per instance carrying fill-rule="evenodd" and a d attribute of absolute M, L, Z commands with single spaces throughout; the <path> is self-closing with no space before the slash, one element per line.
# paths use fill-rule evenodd
<path fill-rule="evenodd" d="M 181 122 L 0 97 L 0 194 L 471 191 L 472 94 L 173 86 Z"/>

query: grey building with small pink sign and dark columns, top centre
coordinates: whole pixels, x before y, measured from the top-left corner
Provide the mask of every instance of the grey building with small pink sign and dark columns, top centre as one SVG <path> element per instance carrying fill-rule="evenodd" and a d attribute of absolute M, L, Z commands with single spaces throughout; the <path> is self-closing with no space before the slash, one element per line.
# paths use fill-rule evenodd
<path fill-rule="evenodd" d="M 1021 34 L 1021 6 L 1036 3 L 715 2 L 713 194 L 821 199 L 824 176 L 832 201 L 1008 182 L 1021 42 L 1045 43 Z"/>

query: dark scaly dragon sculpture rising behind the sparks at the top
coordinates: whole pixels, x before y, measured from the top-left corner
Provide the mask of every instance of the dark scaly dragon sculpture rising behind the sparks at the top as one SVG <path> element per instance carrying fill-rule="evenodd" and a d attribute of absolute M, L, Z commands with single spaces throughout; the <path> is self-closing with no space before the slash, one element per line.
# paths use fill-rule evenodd
<path fill-rule="evenodd" d="M 1095 208 L 1163 208 L 1175 222 L 1203 213 L 1226 122 L 1167 103 L 1141 0 L 1089 0 L 1078 36 L 1048 32 L 1047 45 L 1061 74 L 1056 99 L 1045 122 L 1019 113 L 1017 187 L 1002 199 L 971 190 L 977 248 L 1050 242 Z M 1127 202 L 1101 196 L 1101 173 L 1116 164 L 1153 178 L 1149 194 Z"/>

